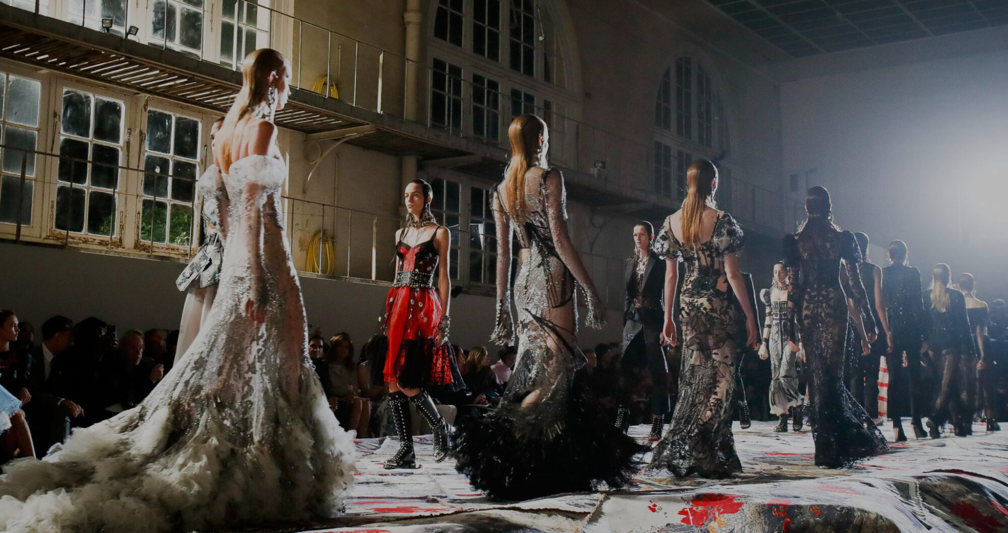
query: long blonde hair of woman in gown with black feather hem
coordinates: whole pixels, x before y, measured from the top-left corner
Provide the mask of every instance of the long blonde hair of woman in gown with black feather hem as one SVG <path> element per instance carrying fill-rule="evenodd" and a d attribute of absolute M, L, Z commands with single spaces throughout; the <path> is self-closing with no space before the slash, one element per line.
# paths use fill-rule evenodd
<path fill-rule="evenodd" d="M 504 198 L 501 202 L 512 220 L 520 221 L 525 214 L 525 173 L 535 165 L 545 165 L 545 154 L 539 150 L 539 136 L 546 135 L 546 123 L 535 115 L 519 115 L 507 129 L 511 141 L 511 161 L 504 170 Z"/>

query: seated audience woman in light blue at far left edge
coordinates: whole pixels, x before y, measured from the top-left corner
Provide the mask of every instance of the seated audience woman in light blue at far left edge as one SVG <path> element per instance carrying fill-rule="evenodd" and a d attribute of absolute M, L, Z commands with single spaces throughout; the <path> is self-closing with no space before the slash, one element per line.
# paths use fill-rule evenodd
<path fill-rule="evenodd" d="M 18 358 L 15 348 L 17 343 L 18 324 L 17 317 L 13 311 L 0 311 L 0 363 L 6 363 L 9 368 L 18 368 L 19 360 L 27 357 L 27 354 Z M 3 367 L 4 369 L 8 367 Z M 6 372 L 6 370 L 0 370 Z M 26 373 L 27 370 L 25 369 Z M 4 380 L 4 374 L 0 374 L 0 380 Z M 17 383 L 16 380 L 11 381 Z M 27 388 L 25 388 L 27 395 Z M 30 395 L 28 395 L 30 399 Z M 31 442 L 31 431 L 28 429 L 28 422 L 25 419 L 24 411 L 19 407 L 23 400 L 10 393 L 6 385 L 0 390 L 0 463 L 6 463 L 16 458 L 35 457 L 35 447 Z"/>

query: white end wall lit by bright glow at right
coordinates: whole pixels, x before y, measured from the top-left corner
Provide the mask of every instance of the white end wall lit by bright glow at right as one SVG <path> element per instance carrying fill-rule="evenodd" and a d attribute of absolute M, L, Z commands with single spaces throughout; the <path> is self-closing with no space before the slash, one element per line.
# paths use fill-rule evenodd
<path fill-rule="evenodd" d="M 784 170 L 817 168 L 838 222 L 906 240 L 925 278 L 944 261 L 1008 297 L 1006 65 L 1002 50 L 785 82 Z"/>

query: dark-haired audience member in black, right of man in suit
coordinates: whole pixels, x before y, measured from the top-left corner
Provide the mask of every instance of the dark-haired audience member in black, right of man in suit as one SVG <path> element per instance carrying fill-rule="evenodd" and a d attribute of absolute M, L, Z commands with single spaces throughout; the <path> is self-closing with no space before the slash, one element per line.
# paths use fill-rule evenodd
<path fill-rule="evenodd" d="M 115 414 L 105 410 L 107 394 L 101 372 L 102 361 L 114 356 L 117 344 L 107 328 L 105 321 L 95 317 L 82 320 L 74 326 L 74 347 L 52 358 L 48 379 L 52 393 L 84 409 L 84 416 L 73 420 L 75 426 L 86 427 Z"/>

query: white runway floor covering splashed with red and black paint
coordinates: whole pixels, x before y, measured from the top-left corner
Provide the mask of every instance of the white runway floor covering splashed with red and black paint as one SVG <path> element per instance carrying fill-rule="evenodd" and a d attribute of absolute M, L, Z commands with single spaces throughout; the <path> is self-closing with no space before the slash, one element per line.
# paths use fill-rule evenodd
<path fill-rule="evenodd" d="M 977 424 L 973 436 L 890 442 L 891 452 L 858 467 L 823 470 L 812 464 L 811 433 L 775 433 L 774 425 L 736 423 L 745 473 L 732 480 L 642 471 L 621 491 L 514 503 L 474 491 L 452 460 L 430 461 L 429 437 L 415 439 L 421 468 L 406 471 L 382 468 L 394 438 L 359 440 L 346 515 L 273 531 L 1008 531 L 1008 431 Z M 648 430 L 630 434 L 643 441 Z"/>

